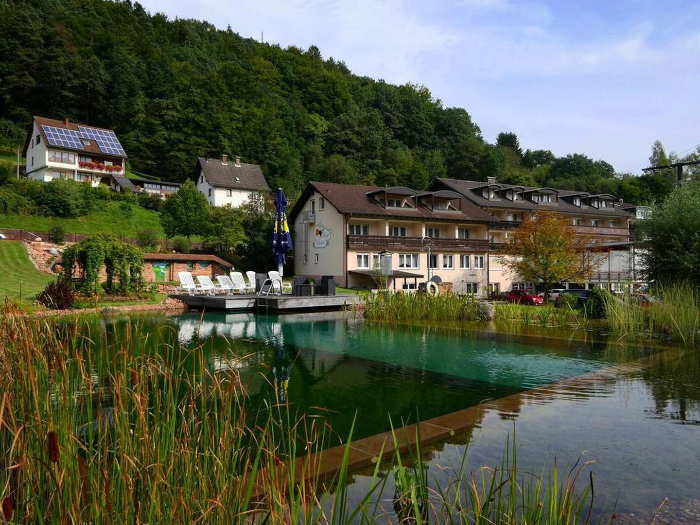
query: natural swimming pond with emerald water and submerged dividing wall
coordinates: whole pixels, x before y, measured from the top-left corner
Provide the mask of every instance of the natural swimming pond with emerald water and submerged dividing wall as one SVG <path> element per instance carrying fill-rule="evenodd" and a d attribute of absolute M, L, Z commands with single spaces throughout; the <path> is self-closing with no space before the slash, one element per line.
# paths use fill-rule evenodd
<path fill-rule="evenodd" d="M 498 463 L 516 421 L 522 466 L 541 470 L 586 452 L 596 459 L 596 509 L 645 513 L 664 498 L 690 508 L 700 468 L 700 365 L 694 351 L 627 347 L 586 332 L 524 337 L 488 330 L 376 325 L 349 314 L 183 314 L 99 321 L 96 341 L 127 331 L 155 346 L 179 341 L 202 352 L 209 372 L 235 371 L 259 413 L 275 400 L 328 421 L 341 442 L 395 424 L 485 405 L 477 428 L 433 445 L 431 479 Z M 659 354 L 661 355 L 661 354 Z M 183 363 L 197 372 L 194 363 Z M 601 378 L 582 380 L 605 370 Z M 200 371 L 201 372 L 201 371 Z M 554 387 L 547 387 L 555 384 Z M 260 416 L 260 414 L 255 414 Z M 354 477 L 358 495 L 367 477 Z M 682 503 L 681 503 L 682 502 Z M 696 505 L 697 503 L 695 503 Z M 685 505 L 683 507 L 682 505 Z"/>

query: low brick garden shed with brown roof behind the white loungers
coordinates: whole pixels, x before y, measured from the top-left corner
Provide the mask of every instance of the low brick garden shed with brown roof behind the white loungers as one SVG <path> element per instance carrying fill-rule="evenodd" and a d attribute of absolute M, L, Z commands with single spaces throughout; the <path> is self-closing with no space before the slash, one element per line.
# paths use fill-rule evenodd
<path fill-rule="evenodd" d="M 144 280 L 148 282 L 178 281 L 178 272 L 193 276 L 208 275 L 214 279 L 226 274 L 233 265 L 216 255 L 193 253 L 144 253 Z"/>

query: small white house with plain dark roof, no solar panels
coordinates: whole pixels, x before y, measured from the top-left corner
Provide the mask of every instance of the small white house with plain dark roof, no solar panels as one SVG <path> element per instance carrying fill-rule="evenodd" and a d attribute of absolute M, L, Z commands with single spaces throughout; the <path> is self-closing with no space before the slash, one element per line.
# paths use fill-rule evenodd
<path fill-rule="evenodd" d="M 212 206 L 239 207 L 255 195 L 269 192 L 260 166 L 241 162 L 240 157 L 197 159 L 197 189 Z"/>

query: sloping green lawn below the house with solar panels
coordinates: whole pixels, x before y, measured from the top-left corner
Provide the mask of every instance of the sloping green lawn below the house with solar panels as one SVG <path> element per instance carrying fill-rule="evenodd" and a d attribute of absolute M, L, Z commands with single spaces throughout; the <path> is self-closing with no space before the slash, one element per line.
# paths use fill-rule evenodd
<path fill-rule="evenodd" d="M 143 228 L 155 228 L 160 238 L 165 232 L 160 225 L 157 211 L 131 205 L 131 213 L 120 208 L 121 202 L 99 202 L 97 209 L 84 217 L 57 218 L 36 215 L 0 214 L 0 228 L 20 228 L 22 230 L 48 232 L 55 225 L 62 225 L 66 234 L 78 233 L 94 235 L 100 232 L 113 233 L 120 237 L 136 237 Z"/>

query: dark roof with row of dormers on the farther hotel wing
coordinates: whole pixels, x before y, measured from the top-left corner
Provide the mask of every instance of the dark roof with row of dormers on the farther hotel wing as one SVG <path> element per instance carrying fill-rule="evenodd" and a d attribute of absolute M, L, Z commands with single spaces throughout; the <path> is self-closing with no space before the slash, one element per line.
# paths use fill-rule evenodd
<path fill-rule="evenodd" d="M 573 195 L 589 195 L 582 191 L 572 191 L 572 190 L 558 190 L 556 188 L 551 188 L 559 194 L 559 200 L 556 204 L 535 204 L 529 200 L 521 201 L 510 201 L 505 198 L 500 200 L 489 200 L 482 195 L 482 188 L 484 186 L 499 186 L 500 188 L 522 188 L 524 191 L 538 190 L 542 188 L 535 188 L 533 186 L 518 186 L 517 184 L 500 184 L 493 183 L 489 184 L 484 181 L 461 181 L 458 179 L 435 179 L 433 184 L 430 186 L 432 190 L 438 189 L 448 189 L 456 191 L 461 195 L 467 197 L 471 202 L 479 205 L 480 207 L 489 208 L 503 208 L 503 209 L 528 209 L 533 211 L 559 211 L 563 214 L 592 214 L 600 215 L 606 217 L 624 217 L 629 218 L 629 213 L 620 207 L 598 209 L 591 206 L 582 205 L 577 207 L 571 202 L 567 202 L 561 197 L 573 197 Z M 591 194 L 592 195 L 592 194 Z M 611 195 L 612 197 L 612 195 Z"/>

